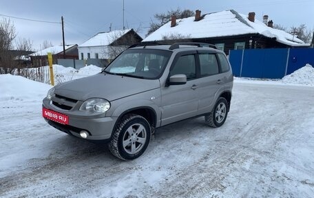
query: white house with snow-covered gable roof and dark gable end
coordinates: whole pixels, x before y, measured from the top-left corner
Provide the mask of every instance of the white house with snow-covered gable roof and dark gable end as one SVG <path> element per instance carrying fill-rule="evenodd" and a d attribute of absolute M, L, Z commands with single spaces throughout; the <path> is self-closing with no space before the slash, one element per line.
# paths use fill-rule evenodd
<path fill-rule="evenodd" d="M 122 50 L 142 40 L 133 29 L 99 32 L 79 45 L 79 59 L 114 59 Z"/>

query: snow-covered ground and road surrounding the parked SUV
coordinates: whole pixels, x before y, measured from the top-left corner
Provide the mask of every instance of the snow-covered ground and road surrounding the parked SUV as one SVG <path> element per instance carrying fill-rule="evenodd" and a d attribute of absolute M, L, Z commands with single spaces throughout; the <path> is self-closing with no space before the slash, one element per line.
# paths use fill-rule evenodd
<path fill-rule="evenodd" d="M 0 84 L 0 197 L 314 197 L 313 86 L 235 79 L 224 126 L 160 128 L 143 156 L 121 161 L 45 123 L 51 86 Z"/>

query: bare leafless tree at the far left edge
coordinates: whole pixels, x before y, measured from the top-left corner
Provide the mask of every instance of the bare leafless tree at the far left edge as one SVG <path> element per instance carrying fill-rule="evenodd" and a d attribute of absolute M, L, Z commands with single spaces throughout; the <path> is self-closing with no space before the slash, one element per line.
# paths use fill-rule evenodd
<path fill-rule="evenodd" d="M 14 68 L 12 66 L 13 55 L 10 50 L 16 36 L 13 22 L 3 18 L 0 21 L 0 74 L 10 73 Z"/>

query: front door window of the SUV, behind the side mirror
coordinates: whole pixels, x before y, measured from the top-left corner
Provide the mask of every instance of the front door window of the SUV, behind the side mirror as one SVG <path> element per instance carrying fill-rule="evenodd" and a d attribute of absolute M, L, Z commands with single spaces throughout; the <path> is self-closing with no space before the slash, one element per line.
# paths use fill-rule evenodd
<path fill-rule="evenodd" d="M 196 64 L 194 55 L 185 55 L 179 57 L 170 70 L 172 75 L 186 75 L 187 80 L 196 78 Z"/>

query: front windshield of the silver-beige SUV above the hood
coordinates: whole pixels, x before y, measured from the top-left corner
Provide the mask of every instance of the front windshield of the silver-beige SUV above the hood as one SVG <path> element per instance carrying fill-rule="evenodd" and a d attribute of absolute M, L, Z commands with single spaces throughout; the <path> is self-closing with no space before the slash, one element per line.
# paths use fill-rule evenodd
<path fill-rule="evenodd" d="M 171 51 L 152 49 L 126 50 L 104 72 L 143 79 L 156 79 L 167 65 Z"/>

